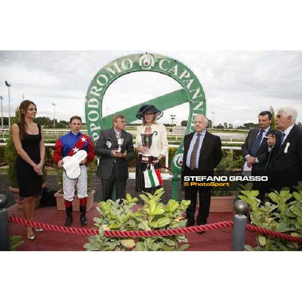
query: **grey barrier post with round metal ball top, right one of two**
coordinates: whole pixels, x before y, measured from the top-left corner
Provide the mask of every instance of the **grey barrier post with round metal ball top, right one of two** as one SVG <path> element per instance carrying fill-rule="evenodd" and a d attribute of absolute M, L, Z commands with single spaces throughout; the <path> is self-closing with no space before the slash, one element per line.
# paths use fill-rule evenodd
<path fill-rule="evenodd" d="M 245 234 L 247 228 L 248 204 L 244 200 L 237 200 L 234 203 L 236 215 L 234 215 L 232 251 L 244 251 Z"/>

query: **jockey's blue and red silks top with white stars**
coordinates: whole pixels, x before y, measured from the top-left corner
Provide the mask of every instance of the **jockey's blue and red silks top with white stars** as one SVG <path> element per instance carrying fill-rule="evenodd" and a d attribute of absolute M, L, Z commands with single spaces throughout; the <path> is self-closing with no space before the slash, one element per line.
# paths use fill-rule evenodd
<path fill-rule="evenodd" d="M 94 145 L 91 138 L 81 132 L 76 135 L 71 131 L 57 139 L 53 153 L 53 161 L 57 165 L 65 156 L 72 156 L 79 150 L 86 150 L 87 163 L 94 160 Z"/>

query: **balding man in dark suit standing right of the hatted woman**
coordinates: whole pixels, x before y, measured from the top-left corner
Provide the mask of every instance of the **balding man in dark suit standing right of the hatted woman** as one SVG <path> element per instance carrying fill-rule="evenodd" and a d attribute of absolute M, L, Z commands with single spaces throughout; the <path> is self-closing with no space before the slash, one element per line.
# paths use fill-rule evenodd
<path fill-rule="evenodd" d="M 195 132 L 189 133 L 184 138 L 184 156 L 182 170 L 213 172 L 222 158 L 221 140 L 219 136 L 206 131 L 208 119 L 205 115 L 198 114 L 194 120 Z M 199 210 L 196 218 L 198 225 L 206 224 L 210 212 L 211 190 L 192 190 L 185 187 L 185 199 L 191 200 L 187 208 L 187 226 L 195 224 L 196 197 L 199 193 Z M 204 232 L 198 232 L 203 234 Z"/>

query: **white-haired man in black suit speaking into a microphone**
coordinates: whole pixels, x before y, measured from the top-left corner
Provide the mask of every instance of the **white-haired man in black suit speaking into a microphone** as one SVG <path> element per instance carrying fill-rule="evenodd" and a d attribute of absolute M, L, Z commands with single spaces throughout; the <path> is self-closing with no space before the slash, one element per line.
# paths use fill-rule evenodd
<path fill-rule="evenodd" d="M 294 191 L 302 181 L 302 129 L 295 125 L 297 111 L 294 108 L 280 108 L 276 115 L 276 126 L 282 131 L 280 137 L 269 137 L 268 144 L 275 145 L 271 160 L 271 185 L 280 191 L 284 187 Z"/>

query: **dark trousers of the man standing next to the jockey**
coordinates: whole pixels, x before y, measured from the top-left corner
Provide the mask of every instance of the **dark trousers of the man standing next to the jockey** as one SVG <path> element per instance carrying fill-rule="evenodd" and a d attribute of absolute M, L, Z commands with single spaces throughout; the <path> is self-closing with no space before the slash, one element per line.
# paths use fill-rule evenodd
<path fill-rule="evenodd" d="M 109 179 L 102 178 L 102 200 L 112 199 L 113 187 L 115 185 L 115 197 L 117 199 L 125 198 L 127 179 L 117 180 L 115 175 L 115 165 L 112 167 L 112 174 Z"/>

